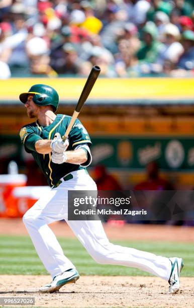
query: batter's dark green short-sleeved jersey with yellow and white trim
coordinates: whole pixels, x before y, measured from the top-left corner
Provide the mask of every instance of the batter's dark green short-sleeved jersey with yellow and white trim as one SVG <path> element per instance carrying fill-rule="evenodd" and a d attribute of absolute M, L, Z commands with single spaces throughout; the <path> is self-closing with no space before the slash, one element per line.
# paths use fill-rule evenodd
<path fill-rule="evenodd" d="M 24 143 L 25 150 L 28 153 L 32 153 L 35 161 L 46 176 L 48 184 L 51 187 L 66 174 L 85 168 L 84 164 L 81 166 L 69 163 L 54 164 L 51 161 L 52 153 L 40 154 L 35 149 L 35 143 L 39 139 L 53 139 L 56 133 L 63 137 L 70 119 L 70 116 L 58 114 L 55 120 L 48 126 L 40 126 L 36 121 L 22 127 L 20 130 L 20 138 Z M 70 130 L 68 138 L 69 146 L 67 150 L 74 150 L 78 145 L 91 144 L 86 129 L 78 119 L 76 119 L 72 129 Z M 87 165 L 86 163 L 85 165 Z"/>

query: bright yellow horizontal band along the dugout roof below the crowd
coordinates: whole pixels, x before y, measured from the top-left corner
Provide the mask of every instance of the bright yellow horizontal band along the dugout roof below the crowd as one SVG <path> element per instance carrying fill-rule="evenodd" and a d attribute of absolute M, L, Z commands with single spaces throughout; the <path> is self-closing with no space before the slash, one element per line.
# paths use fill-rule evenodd
<path fill-rule="evenodd" d="M 19 94 L 28 92 L 34 84 L 54 87 L 61 100 L 77 100 L 83 89 L 84 78 L 25 78 L 0 81 L 0 100 L 18 100 Z M 141 78 L 104 79 L 99 78 L 89 96 L 99 100 L 131 99 L 190 99 L 194 102 L 194 79 Z"/>

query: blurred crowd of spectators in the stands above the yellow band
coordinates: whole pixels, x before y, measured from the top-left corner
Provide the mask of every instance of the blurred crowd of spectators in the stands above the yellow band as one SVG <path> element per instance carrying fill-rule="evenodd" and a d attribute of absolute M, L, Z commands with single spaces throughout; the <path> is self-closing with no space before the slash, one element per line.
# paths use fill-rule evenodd
<path fill-rule="evenodd" d="M 0 0 L 0 79 L 193 76 L 193 0 Z"/>

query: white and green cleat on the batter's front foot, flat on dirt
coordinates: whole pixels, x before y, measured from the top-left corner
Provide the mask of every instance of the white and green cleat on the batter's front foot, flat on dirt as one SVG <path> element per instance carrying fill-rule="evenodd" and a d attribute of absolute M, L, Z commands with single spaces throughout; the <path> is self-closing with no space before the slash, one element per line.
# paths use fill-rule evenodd
<path fill-rule="evenodd" d="M 75 268 L 69 269 L 53 278 L 51 283 L 41 287 L 41 293 L 53 293 L 58 291 L 63 285 L 67 283 L 75 283 L 79 279 L 79 274 Z"/>

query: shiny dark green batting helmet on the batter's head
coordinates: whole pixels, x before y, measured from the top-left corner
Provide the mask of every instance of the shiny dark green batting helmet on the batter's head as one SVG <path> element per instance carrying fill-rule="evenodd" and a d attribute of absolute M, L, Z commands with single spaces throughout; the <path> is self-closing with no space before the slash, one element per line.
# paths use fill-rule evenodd
<path fill-rule="evenodd" d="M 26 103 L 28 95 L 34 94 L 33 102 L 38 106 L 51 105 L 54 112 L 57 110 L 59 103 L 59 96 L 55 89 L 46 85 L 34 85 L 27 93 L 20 94 L 20 100 L 22 103 Z"/>

